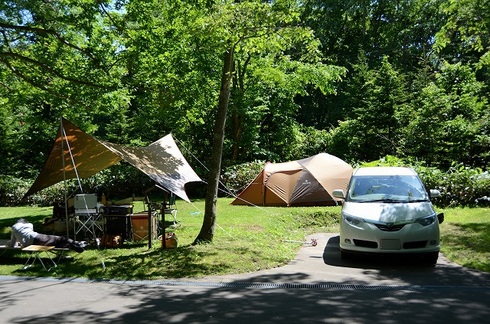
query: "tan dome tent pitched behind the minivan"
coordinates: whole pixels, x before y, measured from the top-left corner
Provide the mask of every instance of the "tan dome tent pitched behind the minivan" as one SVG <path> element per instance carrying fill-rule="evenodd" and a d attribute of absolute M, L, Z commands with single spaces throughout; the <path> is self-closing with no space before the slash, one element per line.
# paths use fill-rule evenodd
<path fill-rule="evenodd" d="M 320 153 L 312 157 L 267 163 L 260 174 L 232 202 L 258 206 L 328 206 L 338 201 L 333 189 L 347 189 L 352 167 Z"/>

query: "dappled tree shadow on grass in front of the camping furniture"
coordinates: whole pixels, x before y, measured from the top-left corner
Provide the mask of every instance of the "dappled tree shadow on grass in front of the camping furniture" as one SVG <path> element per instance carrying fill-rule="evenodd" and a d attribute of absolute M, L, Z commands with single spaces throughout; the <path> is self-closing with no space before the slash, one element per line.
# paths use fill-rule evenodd
<path fill-rule="evenodd" d="M 202 262 L 204 258 L 210 256 L 210 252 L 199 252 L 191 246 L 148 251 L 145 245 L 138 245 L 132 244 L 117 250 L 86 250 L 83 256 L 69 252 L 72 258 L 57 261 L 58 266 L 49 273 L 40 263 L 36 263 L 32 268 L 22 269 L 29 258 L 27 253 L 6 251 L 0 259 L 2 264 L 18 265 L 18 269 L 12 274 L 35 277 L 148 280 L 192 278 L 229 270 L 226 264 Z M 44 262 L 49 262 L 46 257 L 42 259 Z"/>

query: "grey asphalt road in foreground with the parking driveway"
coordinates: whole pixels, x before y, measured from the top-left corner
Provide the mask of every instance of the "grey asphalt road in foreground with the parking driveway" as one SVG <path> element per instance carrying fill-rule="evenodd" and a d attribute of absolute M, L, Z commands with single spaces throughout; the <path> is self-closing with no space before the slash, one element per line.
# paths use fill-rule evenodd
<path fill-rule="evenodd" d="M 490 274 L 443 256 L 344 262 L 315 234 L 290 264 L 202 279 L 0 277 L 1 323 L 489 323 Z"/>

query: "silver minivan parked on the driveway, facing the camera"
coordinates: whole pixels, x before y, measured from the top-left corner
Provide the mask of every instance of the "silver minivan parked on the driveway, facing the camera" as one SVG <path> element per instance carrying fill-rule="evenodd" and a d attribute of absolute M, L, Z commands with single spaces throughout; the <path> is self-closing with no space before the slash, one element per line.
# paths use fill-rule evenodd
<path fill-rule="evenodd" d="M 340 251 L 343 259 L 354 253 L 423 253 L 431 264 L 439 256 L 439 223 L 430 198 L 417 173 L 405 167 L 356 169 L 347 192 L 333 191 L 343 199 Z"/>

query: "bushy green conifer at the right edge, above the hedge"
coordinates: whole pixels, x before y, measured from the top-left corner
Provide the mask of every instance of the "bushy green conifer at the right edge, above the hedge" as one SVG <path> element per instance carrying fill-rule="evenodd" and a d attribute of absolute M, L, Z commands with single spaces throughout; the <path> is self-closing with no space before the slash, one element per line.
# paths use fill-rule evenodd
<path fill-rule="evenodd" d="M 423 88 L 415 100 L 418 108 L 405 113 L 403 153 L 423 157 L 427 163 L 442 168 L 448 168 L 453 161 L 485 166 L 489 161 L 482 159 L 488 147 L 481 140 L 488 137 L 483 119 L 488 114 L 488 101 L 482 91 L 483 84 L 476 80 L 470 67 L 444 64 L 435 82 Z"/>

